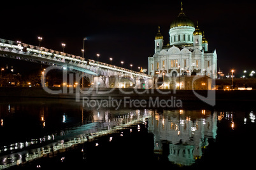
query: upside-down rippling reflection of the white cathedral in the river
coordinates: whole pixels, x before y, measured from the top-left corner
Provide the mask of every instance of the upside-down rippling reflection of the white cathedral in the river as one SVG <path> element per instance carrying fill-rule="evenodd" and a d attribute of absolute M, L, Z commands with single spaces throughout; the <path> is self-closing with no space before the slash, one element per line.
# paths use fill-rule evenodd
<path fill-rule="evenodd" d="M 168 143 L 169 161 L 190 166 L 203 155 L 202 148 L 208 145 L 208 139 L 215 139 L 217 113 L 207 110 L 155 112 L 148 122 L 148 130 L 154 134 L 155 154 L 161 154 L 162 143 Z"/>

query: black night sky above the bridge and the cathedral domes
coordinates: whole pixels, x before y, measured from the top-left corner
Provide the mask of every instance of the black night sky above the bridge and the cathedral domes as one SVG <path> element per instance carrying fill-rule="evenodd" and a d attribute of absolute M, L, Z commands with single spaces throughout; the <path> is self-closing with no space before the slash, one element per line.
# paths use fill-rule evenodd
<path fill-rule="evenodd" d="M 184 13 L 204 30 L 210 50 L 217 49 L 218 68 L 236 74 L 255 70 L 255 4 L 250 1 L 183 1 Z M 169 42 L 170 23 L 180 13 L 180 1 L 10 1 L 1 4 L 0 37 L 82 55 L 129 69 L 148 67 L 154 38 L 160 25 L 164 44 Z M 18 62 L 18 63 L 17 63 Z M 0 58 L 0 65 L 32 63 Z M 16 68 L 15 68 L 16 69 Z M 17 67 L 17 71 L 21 69 Z"/>

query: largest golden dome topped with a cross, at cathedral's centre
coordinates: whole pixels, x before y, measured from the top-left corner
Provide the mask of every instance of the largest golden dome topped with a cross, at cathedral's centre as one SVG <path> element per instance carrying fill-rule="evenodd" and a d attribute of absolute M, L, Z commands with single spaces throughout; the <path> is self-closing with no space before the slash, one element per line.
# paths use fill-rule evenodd
<path fill-rule="evenodd" d="M 190 20 L 185 13 L 183 13 L 182 3 L 181 3 L 181 12 L 178 17 L 171 23 L 170 29 L 173 27 L 180 27 L 180 26 L 190 26 L 195 27 L 194 22 Z"/>

